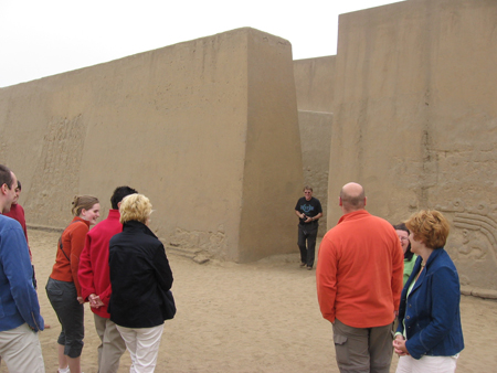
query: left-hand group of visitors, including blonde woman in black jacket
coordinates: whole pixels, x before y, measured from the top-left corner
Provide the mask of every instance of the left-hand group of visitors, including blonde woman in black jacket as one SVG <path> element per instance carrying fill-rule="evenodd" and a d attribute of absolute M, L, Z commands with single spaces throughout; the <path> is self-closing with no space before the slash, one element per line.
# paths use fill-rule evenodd
<path fill-rule="evenodd" d="M 44 329 L 35 291 L 25 223 L 7 217 L 19 198 L 18 180 L 0 164 L 0 356 L 9 372 L 44 372 L 38 331 Z M 106 220 L 91 195 L 75 196 L 74 219 L 56 243 L 46 295 L 61 323 L 60 373 L 81 373 L 84 302 L 101 339 L 98 372 L 117 372 L 126 349 L 130 372 L 154 372 L 163 322 L 176 312 L 172 271 L 148 224 L 151 203 L 129 186 L 117 188 Z M 22 209 L 22 207 L 21 207 Z M 96 226 L 89 231 L 92 225 Z M 20 359 L 19 356 L 22 356 Z"/>

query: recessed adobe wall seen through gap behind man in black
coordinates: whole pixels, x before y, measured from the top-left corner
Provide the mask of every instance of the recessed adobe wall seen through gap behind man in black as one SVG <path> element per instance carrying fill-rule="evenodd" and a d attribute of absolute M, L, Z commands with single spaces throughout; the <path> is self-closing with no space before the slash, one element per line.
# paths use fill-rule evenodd
<path fill-rule="evenodd" d="M 319 220 L 318 235 L 324 236 L 328 225 L 335 56 L 294 61 L 294 75 L 304 180 L 313 185 L 314 196 L 321 202 L 324 217 Z"/>

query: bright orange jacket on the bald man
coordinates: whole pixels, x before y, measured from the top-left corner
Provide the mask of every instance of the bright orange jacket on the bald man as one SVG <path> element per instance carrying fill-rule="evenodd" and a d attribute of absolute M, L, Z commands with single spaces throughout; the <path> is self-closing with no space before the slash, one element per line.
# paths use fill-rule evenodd
<path fill-rule="evenodd" d="M 322 238 L 316 285 L 322 317 L 352 328 L 391 323 L 399 310 L 404 256 L 385 220 L 366 210 L 343 215 Z"/>

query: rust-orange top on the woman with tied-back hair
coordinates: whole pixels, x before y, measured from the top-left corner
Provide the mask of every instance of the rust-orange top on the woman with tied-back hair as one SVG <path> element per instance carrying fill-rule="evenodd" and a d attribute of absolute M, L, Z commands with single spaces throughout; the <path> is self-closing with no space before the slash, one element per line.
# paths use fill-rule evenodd
<path fill-rule="evenodd" d="M 57 254 L 55 256 L 55 264 L 53 265 L 51 278 L 74 283 L 77 290 L 77 296 L 81 297 L 81 286 L 77 280 L 77 269 L 80 267 L 80 255 L 85 247 L 86 234 L 89 230 L 89 222 L 78 216 L 74 217 L 71 224 L 62 233 L 62 248 L 57 242 Z M 67 260 L 67 257 L 71 259 Z"/>

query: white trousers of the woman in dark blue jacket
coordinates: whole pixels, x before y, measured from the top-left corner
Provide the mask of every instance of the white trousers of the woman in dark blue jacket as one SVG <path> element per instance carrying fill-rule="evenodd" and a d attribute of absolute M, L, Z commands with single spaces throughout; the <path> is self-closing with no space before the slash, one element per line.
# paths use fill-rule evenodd
<path fill-rule="evenodd" d="M 395 373 L 454 373 L 456 363 L 456 356 L 423 356 L 415 360 L 406 355 L 400 356 Z"/>

